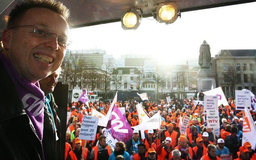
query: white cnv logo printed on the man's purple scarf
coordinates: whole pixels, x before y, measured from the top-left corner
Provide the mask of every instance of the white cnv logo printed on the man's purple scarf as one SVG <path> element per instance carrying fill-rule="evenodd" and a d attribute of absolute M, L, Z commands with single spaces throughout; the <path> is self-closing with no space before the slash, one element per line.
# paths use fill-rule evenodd
<path fill-rule="evenodd" d="M 32 105 L 29 106 L 29 104 L 27 104 L 27 100 L 29 98 L 33 98 L 34 99 L 34 103 Z M 41 100 L 40 98 L 37 98 L 36 96 L 34 96 L 31 93 L 26 94 L 23 98 L 22 98 L 22 103 L 23 106 L 26 110 L 28 110 L 29 112 L 31 112 L 32 109 L 36 108 L 36 110 L 32 113 L 33 116 L 38 116 L 41 114 L 41 112 L 43 112 L 43 107 L 44 107 L 44 101 Z M 28 108 L 29 107 L 29 108 Z"/>

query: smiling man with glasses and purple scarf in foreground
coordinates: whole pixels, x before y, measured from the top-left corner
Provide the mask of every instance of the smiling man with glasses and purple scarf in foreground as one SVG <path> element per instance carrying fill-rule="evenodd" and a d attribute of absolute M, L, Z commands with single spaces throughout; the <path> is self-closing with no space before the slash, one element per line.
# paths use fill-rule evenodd
<path fill-rule="evenodd" d="M 68 18 L 69 10 L 51 0 L 24 0 L 9 14 L 0 53 L 0 153 L 8 159 L 56 159 L 52 116 L 38 81 L 61 66 Z"/>

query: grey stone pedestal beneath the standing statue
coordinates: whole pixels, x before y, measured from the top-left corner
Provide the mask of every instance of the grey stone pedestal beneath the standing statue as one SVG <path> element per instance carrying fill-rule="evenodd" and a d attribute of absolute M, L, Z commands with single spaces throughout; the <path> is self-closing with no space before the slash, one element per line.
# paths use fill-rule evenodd
<path fill-rule="evenodd" d="M 197 85 L 199 92 L 201 90 L 207 91 L 216 88 L 215 73 L 211 68 L 200 68 L 197 73 Z"/>

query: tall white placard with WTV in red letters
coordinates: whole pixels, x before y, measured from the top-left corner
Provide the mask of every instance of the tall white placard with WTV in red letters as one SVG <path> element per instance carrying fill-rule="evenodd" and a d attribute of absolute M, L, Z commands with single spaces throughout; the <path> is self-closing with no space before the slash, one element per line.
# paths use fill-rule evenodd
<path fill-rule="evenodd" d="M 206 110 L 207 127 L 219 128 L 218 96 L 204 96 L 204 109 Z"/>

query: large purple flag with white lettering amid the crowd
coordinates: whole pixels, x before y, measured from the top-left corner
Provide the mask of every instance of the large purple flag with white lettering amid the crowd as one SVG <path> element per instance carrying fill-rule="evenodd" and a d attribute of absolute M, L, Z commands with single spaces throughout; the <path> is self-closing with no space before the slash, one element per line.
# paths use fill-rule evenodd
<path fill-rule="evenodd" d="M 111 125 L 111 136 L 116 138 L 118 141 L 126 142 L 128 139 L 132 138 L 132 128 L 127 122 L 124 115 L 116 107 L 116 104 L 113 107 L 111 112 L 111 123 L 107 125 L 107 128 L 110 128 Z"/>

